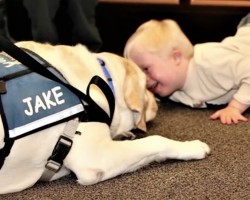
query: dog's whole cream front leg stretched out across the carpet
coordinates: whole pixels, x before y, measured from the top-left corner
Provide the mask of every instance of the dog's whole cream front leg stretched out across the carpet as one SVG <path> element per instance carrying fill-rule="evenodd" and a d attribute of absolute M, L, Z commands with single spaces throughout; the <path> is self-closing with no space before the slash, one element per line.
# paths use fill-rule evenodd
<path fill-rule="evenodd" d="M 135 171 L 153 161 L 203 159 L 210 153 L 208 145 L 198 140 L 180 142 L 155 135 L 133 141 L 113 141 L 105 129 L 91 126 L 91 133 L 75 141 L 72 156 L 67 159 L 82 185 Z"/>

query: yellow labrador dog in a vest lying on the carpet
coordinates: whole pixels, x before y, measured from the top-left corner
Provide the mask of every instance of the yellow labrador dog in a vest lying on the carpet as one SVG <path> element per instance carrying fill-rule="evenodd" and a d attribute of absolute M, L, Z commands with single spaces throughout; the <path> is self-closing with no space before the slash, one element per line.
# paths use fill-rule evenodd
<path fill-rule="evenodd" d="M 146 90 L 146 77 L 131 61 L 111 53 L 91 53 L 82 45 L 52 46 L 32 41 L 16 45 L 40 55 L 70 85 L 83 93 L 94 75 L 106 80 L 97 60 L 99 58 L 105 62 L 115 90 L 111 126 L 100 122 L 79 123 L 75 132 L 81 134 L 72 138 L 73 145 L 63 160 L 63 166 L 47 181 L 59 179 L 72 171 L 78 183 L 91 185 L 135 171 L 153 161 L 203 159 L 210 153 L 208 145 L 199 140 L 180 142 L 157 135 L 136 140 L 114 140 L 121 136 L 133 138 L 130 130 L 134 128 L 146 131 L 146 122 L 153 120 L 157 113 L 155 98 Z M 103 110 L 110 112 L 109 104 L 98 87 L 92 86 L 90 95 Z M 22 191 L 41 178 L 66 124 L 63 122 L 15 141 L 0 170 L 0 194 Z M 0 149 L 4 145 L 1 123 Z"/>

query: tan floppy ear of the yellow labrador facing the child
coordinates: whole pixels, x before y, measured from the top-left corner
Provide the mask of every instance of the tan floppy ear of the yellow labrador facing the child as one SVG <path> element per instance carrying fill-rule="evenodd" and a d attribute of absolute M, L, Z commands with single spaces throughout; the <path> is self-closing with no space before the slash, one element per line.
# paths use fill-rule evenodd
<path fill-rule="evenodd" d="M 135 67 L 130 66 L 134 64 L 132 61 L 125 60 L 123 63 L 126 69 L 126 78 L 124 81 L 124 98 L 129 109 L 134 112 L 134 120 L 137 128 L 146 132 L 147 126 L 144 105 L 146 85 L 143 81 L 146 79 L 145 77 L 141 77 L 141 75 L 144 75 L 143 73 L 137 73 Z"/>

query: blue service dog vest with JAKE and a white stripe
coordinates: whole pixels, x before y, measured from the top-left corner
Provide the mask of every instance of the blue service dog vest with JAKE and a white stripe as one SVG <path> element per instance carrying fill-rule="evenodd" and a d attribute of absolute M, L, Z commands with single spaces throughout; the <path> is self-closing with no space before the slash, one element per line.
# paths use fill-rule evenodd
<path fill-rule="evenodd" d="M 41 64 L 46 64 L 43 59 L 29 54 Z M 48 69 L 66 82 L 53 67 Z M 1 98 L 9 138 L 23 137 L 29 132 L 84 111 L 83 102 L 68 88 L 35 72 L 8 78 L 23 70 L 27 70 L 27 67 L 0 54 L 0 77 L 3 77 L 7 91 Z"/>

